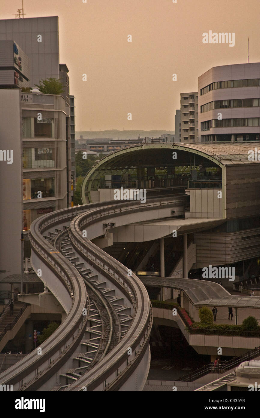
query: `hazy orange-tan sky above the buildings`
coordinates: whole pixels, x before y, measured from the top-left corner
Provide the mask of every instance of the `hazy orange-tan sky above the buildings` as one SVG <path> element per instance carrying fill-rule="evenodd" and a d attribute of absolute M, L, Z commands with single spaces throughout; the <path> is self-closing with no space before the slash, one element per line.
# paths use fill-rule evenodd
<path fill-rule="evenodd" d="M 76 130 L 174 130 L 180 93 L 197 91 L 198 76 L 213 66 L 247 62 L 247 36 L 249 62 L 260 61 L 258 0 L 86 1 L 24 0 L 25 18 L 59 17 Z M 1 19 L 21 5 L 0 0 Z M 210 30 L 235 32 L 235 46 L 203 44 Z"/>

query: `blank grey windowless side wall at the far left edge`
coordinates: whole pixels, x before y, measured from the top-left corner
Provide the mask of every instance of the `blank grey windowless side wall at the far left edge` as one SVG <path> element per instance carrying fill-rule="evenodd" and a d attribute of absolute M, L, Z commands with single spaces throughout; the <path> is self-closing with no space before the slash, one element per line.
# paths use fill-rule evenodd
<path fill-rule="evenodd" d="M 0 147 L 13 150 L 13 163 L 0 161 L 1 277 L 20 274 L 22 217 L 22 159 L 20 89 L 0 90 Z M 11 256 L 10 256 L 11 255 Z"/>

